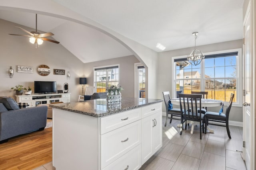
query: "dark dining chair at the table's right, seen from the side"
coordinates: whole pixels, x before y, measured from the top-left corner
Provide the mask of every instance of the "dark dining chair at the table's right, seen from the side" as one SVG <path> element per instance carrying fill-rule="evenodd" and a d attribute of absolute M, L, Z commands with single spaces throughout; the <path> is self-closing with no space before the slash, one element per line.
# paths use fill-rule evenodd
<path fill-rule="evenodd" d="M 206 113 L 204 114 L 204 121 L 205 121 L 206 126 L 216 125 L 216 126 L 226 127 L 229 139 L 231 139 L 231 136 L 230 136 L 230 130 L 228 127 L 228 118 L 229 118 L 229 113 L 230 113 L 230 109 L 232 106 L 234 96 L 235 95 L 233 93 L 231 93 L 230 101 L 228 102 L 228 106 L 226 108 L 225 113 L 223 113 L 221 111 L 220 112 L 206 111 Z M 209 121 L 211 121 L 211 122 L 209 122 Z M 221 123 L 224 123 L 224 125 L 219 124 L 219 123 L 214 123 L 214 122 L 221 122 Z M 205 129 L 204 133 L 206 133 L 206 129 Z"/>

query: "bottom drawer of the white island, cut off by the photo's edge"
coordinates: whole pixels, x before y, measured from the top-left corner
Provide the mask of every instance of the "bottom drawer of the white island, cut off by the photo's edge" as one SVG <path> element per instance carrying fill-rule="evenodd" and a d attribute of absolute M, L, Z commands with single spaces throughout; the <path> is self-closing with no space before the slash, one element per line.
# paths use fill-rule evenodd
<path fill-rule="evenodd" d="M 130 150 L 103 170 L 138 170 L 141 167 L 141 144 Z"/>

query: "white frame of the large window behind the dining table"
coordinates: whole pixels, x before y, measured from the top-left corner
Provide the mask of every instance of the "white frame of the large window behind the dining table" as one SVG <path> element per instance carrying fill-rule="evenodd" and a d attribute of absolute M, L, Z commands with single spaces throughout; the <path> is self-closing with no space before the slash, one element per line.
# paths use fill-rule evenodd
<path fill-rule="evenodd" d="M 204 53 L 204 55 L 214 55 L 214 54 L 222 54 L 222 53 L 231 53 L 231 52 L 238 52 L 238 57 L 237 57 L 237 78 L 238 78 L 238 83 L 237 83 L 237 87 L 236 87 L 236 101 L 237 102 L 233 102 L 232 106 L 237 106 L 237 107 L 242 107 L 242 48 L 239 49 L 229 49 L 229 50 L 222 50 L 222 51 L 212 51 L 212 52 L 207 52 Z M 171 96 L 172 98 L 176 98 L 176 65 L 174 62 L 174 59 L 184 59 L 187 58 L 187 55 L 182 55 L 182 56 L 176 56 L 176 57 L 172 57 L 171 59 L 171 80 L 173 80 L 173 83 L 171 84 Z M 201 75 L 204 75 L 204 60 L 201 62 Z M 205 82 L 204 80 L 206 80 L 204 78 L 204 76 L 200 78 L 201 80 L 201 87 L 200 90 L 204 91 L 204 87 L 205 87 Z M 203 80 L 203 81 L 202 81 Z M 224 102 L 224 105 L 226 106 L 228 104 L 228 102 Z"/>

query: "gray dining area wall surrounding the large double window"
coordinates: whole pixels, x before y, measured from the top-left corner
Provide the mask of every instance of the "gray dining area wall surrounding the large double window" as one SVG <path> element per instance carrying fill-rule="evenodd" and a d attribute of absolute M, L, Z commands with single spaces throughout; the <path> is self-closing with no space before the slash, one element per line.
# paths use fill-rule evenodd
<path fill-rule="evenodd" d="M 213 52 L 213 51 L 222 51 L 228 49 L 238 49 L 242 48 L 242 39 L 235 40 L 235 41 L 228 41 L 223 43 L 216 43 L 210 45 L 203 45 L 198 46 L 197 48 L 200 49 L 203 53 Z M 158 54 L 158 96 L 157 98 L 163 98 L 162 92 L 170 91 L 171 92 L 171 84 L 173 81 L 171 80 L 171 58 L 188 55 L 194 47 L 185 48 L 185 49 L 178 49 L 172 51 L 166 51 Z M 241 56 L 242 57 L 242 56 Z M 241 80 L 242 81 L 242 80 Z M 242 91 L 240 92 L 242 94 Z M 166 111 L 164 104 L 162 105 L 163 111 Z M 211 108 L 209 111 L 218 111 L 219 108 Z M 226 110 L 226 109 L 224 109 Z M 230 111 L 230 121 L 239 121 L 242 122 L 243 115 L 242 115 L 242 107 L 232 107 Z"/>

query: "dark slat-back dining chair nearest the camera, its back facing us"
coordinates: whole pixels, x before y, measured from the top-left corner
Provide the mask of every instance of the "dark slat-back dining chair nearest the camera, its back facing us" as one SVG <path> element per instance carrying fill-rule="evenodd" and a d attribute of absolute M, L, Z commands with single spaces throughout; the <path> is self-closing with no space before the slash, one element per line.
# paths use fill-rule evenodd
<path fill-rule="evenodd" d="M 197 121 L 200 127 L 200 139 L 202 139 L 202 131 L 204 133 L 204 114 L 202 114 L 201 94 L 179 94 L 180 109 L 186 110 L 184 113 L 180 112 L 180 135 L 182 135 L 183 125 L 187 129 L 186 121 Z"/>

